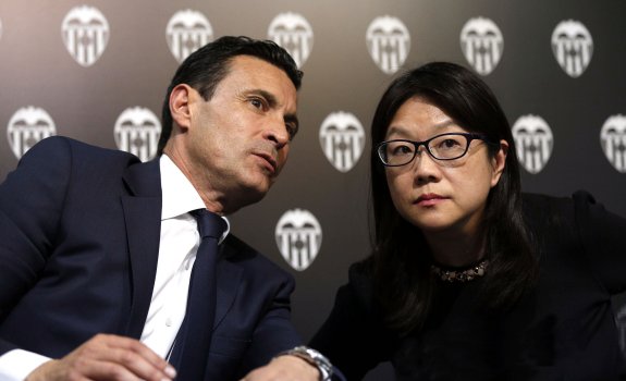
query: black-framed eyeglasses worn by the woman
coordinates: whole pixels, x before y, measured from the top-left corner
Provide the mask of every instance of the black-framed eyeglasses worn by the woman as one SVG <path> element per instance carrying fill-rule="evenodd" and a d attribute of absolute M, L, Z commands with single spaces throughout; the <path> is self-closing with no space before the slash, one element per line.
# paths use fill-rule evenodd
<path fill-rule="evenodd" d="M 431 137 L 428 140 L 415 142 L 408 139 L 394 139 L 382 142 L 377 146 L 378 157 L 386 167 L 408 164 L 415 159 L 419 146 L 437 160 L 454 160 L 467 153 L 471 140 L 480 139 L 491 143 L 486 135 L 471 133 L 449 133 Z"/>

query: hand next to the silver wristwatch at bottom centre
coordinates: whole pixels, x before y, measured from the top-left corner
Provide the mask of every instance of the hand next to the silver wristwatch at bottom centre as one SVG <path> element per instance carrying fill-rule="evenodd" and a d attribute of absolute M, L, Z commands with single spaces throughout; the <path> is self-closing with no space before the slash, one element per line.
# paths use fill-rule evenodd
<path fill-rule="evenodd" d="M 242 381 L 319 381 L 319 370 L 296 356 L 279 356 L 265 367 L 246 374 Z"/>

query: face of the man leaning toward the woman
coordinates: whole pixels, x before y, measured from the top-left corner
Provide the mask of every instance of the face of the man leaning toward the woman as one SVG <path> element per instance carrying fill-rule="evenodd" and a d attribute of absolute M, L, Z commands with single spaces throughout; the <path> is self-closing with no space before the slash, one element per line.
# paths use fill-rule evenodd
<path fill-rule="evenodd" d="M 286 162 L 297 132 L 297 93 L 285 72 L 237 56 L 212 98 L 189 90 L 185 139 L 192 183 L 224 212 L 260 200 Z M 210 197 L 209 197 L 210 196 Z"/>

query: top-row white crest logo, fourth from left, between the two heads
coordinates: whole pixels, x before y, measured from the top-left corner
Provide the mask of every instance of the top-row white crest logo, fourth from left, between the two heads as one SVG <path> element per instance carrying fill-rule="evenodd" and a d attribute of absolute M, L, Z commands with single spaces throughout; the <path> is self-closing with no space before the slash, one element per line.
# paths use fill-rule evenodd
<path fill-rule="evenodd" d="M 397 72 L 410 51 L 410 34 L 396 17 L 376 17 L 367 27 L 365 39 L 369 56 L 385 74 Z"/>

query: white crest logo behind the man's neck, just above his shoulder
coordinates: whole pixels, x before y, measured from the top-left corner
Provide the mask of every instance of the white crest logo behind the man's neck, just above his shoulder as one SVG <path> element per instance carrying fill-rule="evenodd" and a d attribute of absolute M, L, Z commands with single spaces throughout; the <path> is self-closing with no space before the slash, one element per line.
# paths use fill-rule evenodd
<path fill-rule="evenodd" d="M 115 121 L 115 145 L 119 149 L 137 156 L 142 161 L 155 157 L 160 134 L 159 119 L 146 108 L 127 108 Z"/>

